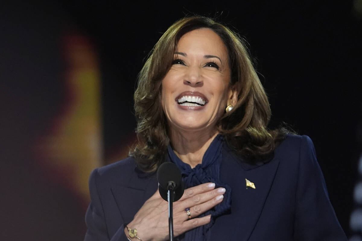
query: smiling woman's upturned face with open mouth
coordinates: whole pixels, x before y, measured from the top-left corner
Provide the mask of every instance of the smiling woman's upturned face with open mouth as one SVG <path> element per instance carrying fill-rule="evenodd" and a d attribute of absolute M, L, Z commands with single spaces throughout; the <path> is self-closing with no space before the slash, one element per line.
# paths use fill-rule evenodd
<path fill-rule="evenodd" d="M 203 28 L 183 35 L 162 80 L 161 103 L 169 127 L 214 130 L 226 106 L 236 103 L 230 75 L 227 48 L 214 31 Z"/>

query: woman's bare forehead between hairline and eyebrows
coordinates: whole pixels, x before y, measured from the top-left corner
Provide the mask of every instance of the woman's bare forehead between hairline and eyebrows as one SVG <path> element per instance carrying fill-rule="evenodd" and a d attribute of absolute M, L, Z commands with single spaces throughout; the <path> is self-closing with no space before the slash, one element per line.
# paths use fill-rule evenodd
<path fill-rule="evenodd" d="M 204 55 L 216 55 L 227 58 L 227 48 L 218 34 L 211 29 L 202 28 L 192 30 L 180 38 L 177 44 L 178 52 L 191 51 Z"/>

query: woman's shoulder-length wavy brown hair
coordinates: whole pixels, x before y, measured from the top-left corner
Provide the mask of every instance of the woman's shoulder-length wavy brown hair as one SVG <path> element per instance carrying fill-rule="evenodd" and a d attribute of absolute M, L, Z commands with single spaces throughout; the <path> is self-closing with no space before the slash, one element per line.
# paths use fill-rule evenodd
<path fill-rule="evenodd" d="M 228 50 L 231 86 L 237 90 L 237 103 L 218 121 L 230 149 L 250 163 L 270 159 L 286 130 L 268 130 L 269 101 L 253 67 L 246 42 L 234 31 L 209 17 L 185 17 L 161 36 L 138 76 L 134 94 L 138 142 L 130 151 L 145 172 L 153 172 L 164 162 L 169 144 L 167 120 L 161 106 L 161 82 L 171 68 L 181 36 L 195 29 L 209 28 L 223 40 Z"/>

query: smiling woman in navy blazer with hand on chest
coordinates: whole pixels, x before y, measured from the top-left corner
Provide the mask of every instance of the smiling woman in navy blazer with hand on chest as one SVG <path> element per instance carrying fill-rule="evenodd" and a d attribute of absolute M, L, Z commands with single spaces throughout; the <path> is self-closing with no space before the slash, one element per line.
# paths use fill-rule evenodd
<path fill-rule="evenodd" d="M 266 129 L 268 99 L 227 27 L 197 16 L 169 27 L 140 72 L 135 114 L 130 157 L 90 176 L 85 240 L 167 240 L 155 178 L 166 161 L 187 188 L 173 206 L 178 240 L 346 240 L 311 140 Z"/>

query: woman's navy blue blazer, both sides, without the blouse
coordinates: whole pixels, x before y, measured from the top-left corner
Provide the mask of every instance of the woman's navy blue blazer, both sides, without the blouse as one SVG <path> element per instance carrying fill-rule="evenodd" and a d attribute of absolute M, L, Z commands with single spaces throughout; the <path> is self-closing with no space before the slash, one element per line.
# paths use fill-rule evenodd
<path fill-rule="evenodd" d="M 262 165 L 243 162 L 227 148 L 222 155 L 220 179 L 231 185 L 231 212 L 216 218 L 211 240 L 347 240 L 309 137 L 289 135 Z M 127 241 L 125 225 L 157 190 L 155 175 L 137 170 L 127 158 L 92 172 L 85 241 Z"/>

